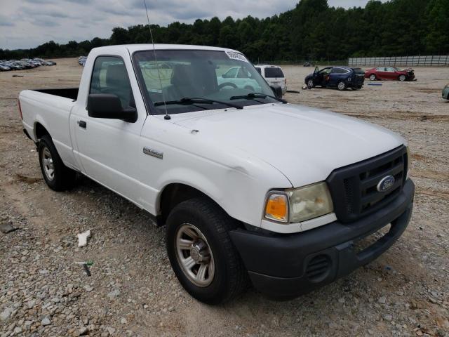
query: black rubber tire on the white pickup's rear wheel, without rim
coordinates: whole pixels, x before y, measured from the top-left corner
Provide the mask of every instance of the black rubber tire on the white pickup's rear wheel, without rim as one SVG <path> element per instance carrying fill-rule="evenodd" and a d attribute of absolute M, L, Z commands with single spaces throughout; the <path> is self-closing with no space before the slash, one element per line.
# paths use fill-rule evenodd
<path fill-rule="evenodd" d="M 69 169 L 64 165 L 51 137 L 43 136 L 41 140 L 39 140 L 37 150 L 42 176 L 48 187 L 58 192 L 72 188 L 76 182 L 76 171 Z M 46 150 L 51 154 L 51 161 L 53 161 L 53 178 L 48 174 L 46 163 L 44 163 L 45 158 L 43 152 L 46 152 Z"/>

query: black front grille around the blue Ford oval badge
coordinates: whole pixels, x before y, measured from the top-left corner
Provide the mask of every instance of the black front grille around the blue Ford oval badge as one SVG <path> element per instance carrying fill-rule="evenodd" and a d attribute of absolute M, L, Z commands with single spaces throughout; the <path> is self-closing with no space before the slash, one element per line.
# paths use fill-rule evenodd
<path fill-rule="evenodd" d="M 405 146 L 333 171 L 326 181 L 338 220 L 349 223 L 381 209 L 401 192 L 406 172 Z M 378 192 L 377 184 L 386 176 L 394 176 L 395 183 Z"/>

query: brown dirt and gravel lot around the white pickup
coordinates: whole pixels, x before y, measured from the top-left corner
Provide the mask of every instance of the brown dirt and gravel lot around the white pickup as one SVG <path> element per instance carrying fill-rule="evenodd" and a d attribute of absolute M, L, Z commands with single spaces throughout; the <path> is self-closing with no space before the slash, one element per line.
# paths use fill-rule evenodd
<path fill-rule="evenodd" d="M 55 193 L 22 133 L 25 88 L 77 86 L 75 59 L 0 74 L 0 336 L 449 336 L 449 68 L 361 91 L 302 91 L 312 68 L 284 67 L 290 103 L 386 126 L 408 139 L 417 185 L 413 220 L 383 256 L 289 302 L 253 290 L 227 305 L 196 302 L 170 269 L 164 230 L 144 211 L 84 178 Z M 12 77 L 22 74 L 24 77 Z M 366 84 L 368 84 L 366 82 Z M 76 233 L 91 229 L 88 246 Z M 75 262 L 93 260 L 92 277 Z"/>

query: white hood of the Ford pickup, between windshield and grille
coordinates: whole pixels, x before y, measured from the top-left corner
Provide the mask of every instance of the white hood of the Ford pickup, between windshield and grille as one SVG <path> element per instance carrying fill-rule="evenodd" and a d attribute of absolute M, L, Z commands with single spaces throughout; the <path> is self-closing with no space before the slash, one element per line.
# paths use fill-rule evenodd
<path fill-rule="evenodd" d="M 321 180 L 342 166 L 375 157 L 405 140 L 386 128 L 304 105 L 253 105 L 172 115 L 217 151 L 239 149 L 281 171 L 293 187 Z"/>

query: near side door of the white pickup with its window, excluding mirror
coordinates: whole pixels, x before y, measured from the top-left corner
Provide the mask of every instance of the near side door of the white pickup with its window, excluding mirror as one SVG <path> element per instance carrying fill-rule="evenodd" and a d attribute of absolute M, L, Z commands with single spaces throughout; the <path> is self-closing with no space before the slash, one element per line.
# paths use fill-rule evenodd
<path fill-rule="evenodd" d="M 88 94 L 114 94 L 120 98 L 123 109 L 135 107 L 124 59 L 126 55 L 98 56 L 93 65 Z M 72 113 L 71 124 L 83 171 L 88 177 L 123 197 L 139 200 L 142 190 L 138 181 L 138 163 L 142 151 L 140 131 L 146 114 L 138 112 L 138 120 L 133 123 L 121 119 L 89 117 L 86 102 L 79 102 L 77 107 Z"/>

